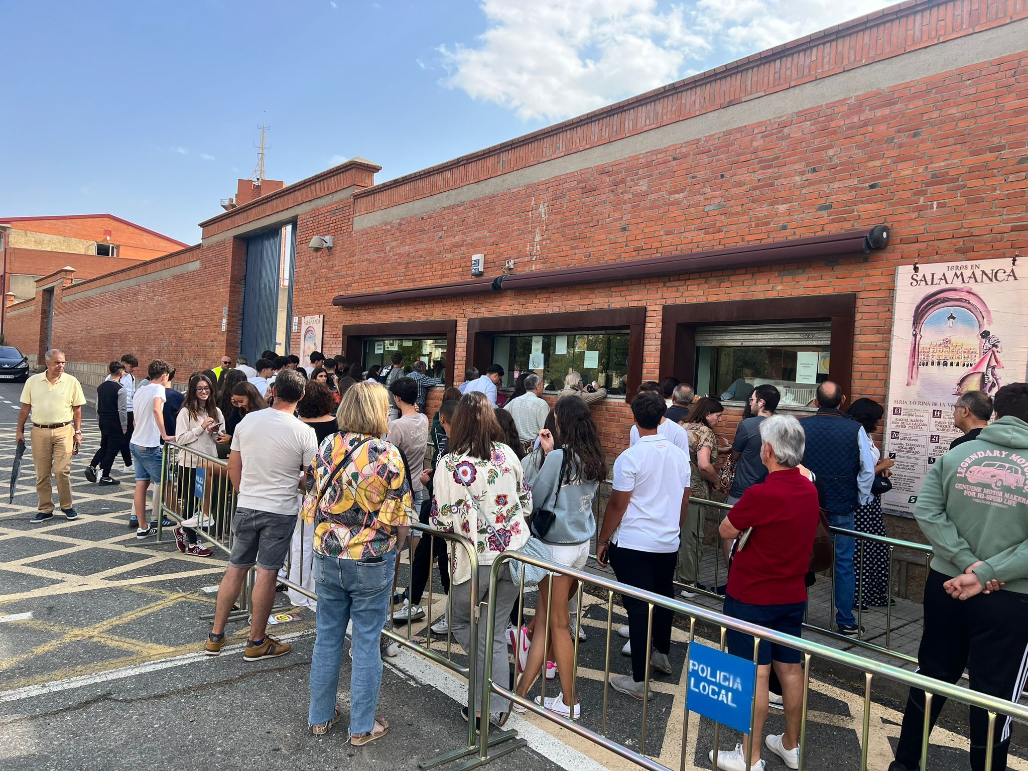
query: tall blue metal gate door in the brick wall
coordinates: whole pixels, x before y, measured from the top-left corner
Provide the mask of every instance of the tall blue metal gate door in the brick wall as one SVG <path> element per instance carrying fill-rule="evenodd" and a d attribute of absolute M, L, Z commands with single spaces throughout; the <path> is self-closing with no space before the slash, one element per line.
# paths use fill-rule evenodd
<path fill-rule="evenodd" d="M 251 363 L 274 350 L 279 318 L 279 263 L 282 230 L 247 238 L 247 274 L 243 283 L 243 339 L 240 350 Z"/>

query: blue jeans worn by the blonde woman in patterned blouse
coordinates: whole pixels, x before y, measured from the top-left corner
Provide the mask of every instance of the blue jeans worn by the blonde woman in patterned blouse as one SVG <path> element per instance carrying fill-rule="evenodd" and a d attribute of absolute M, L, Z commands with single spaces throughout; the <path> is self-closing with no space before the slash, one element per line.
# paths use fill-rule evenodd
<path fill-rule="evenodd" d="M 380 562 L 336 559 L 315 553 L 318 636 L 310 658 L 309 725 L 327 723 L 335 713 L 342 640 L 347 623 L 353 621 L 350 733 L 366 734 L 374 728 L 382 683 L 379 635 L 389 611 L 394 564 L 395 551 L 386 554 Z"/>

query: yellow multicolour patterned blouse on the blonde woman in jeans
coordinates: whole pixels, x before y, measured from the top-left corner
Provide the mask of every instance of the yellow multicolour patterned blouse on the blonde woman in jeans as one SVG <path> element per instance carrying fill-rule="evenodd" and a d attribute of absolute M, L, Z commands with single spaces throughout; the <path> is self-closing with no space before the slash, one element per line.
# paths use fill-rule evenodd
<path fill-rule="evenodd" d="M 397 528 L 410 523 L 410 480 L 400 451 L 377 437 L 361 444 L 367 438 L 333 434 L 321 443 L 307 468 L 301 516 L 315 524 L 314 547 L 319 554 L 339 559 L 380 556 L 396 548 Z M 346 467 L 333 476 L 343 460 Z"/>

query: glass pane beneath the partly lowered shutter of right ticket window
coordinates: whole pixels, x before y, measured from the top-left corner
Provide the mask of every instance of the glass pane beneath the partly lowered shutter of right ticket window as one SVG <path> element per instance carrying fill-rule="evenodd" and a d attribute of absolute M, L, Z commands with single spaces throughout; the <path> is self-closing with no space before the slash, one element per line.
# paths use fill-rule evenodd
<path fill-rule="evenodd" d="M 754 388 L 770 383 L 781 392 L 781 404 L 807 405 L 829 377 L 828 345 L 701 346 L 696 353 L 697 393 L 723 401 L 745 401 Z"/>

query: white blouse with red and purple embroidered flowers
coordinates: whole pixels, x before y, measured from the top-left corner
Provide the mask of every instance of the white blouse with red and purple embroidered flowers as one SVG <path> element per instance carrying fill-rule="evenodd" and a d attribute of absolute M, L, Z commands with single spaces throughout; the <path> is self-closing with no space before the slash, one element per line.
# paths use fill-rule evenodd
<path fill-rule="evenodd" d="M 521 462 L 506 444 L 493 442 L 487 458 L 444 455 L 432 485 L 432 526 L 472 541 L 479 565 L 492 564 L 500 554 L 519 549 L 528 540 L 531 491 L 524 483 Z M 471 578 L 464 549 L 451 545 L 450 561 L 453 583 Z"/>

